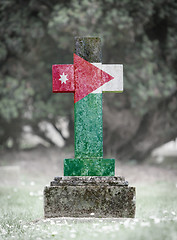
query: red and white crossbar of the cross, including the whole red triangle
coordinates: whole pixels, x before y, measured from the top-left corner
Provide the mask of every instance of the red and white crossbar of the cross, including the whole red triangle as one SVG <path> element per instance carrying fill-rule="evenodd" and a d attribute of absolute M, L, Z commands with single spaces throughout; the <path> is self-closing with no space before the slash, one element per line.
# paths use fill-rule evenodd
<path fill-rule="evenodd" d="M 74 64 L 52 66 L 53 92 L 72 92 L 74 102 L 90 93 L 122 92 L 123 66 L 90 63 L 74 54 Z"/>

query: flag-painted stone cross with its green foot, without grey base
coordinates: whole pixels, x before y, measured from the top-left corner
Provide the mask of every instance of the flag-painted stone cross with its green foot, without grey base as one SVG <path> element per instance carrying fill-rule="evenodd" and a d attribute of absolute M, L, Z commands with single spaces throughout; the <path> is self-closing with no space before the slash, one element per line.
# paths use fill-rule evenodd
<path fill-rule="evenodd" d="M 115 160 L 103 158 L 102 92 L 123 91 L 123 66 L 101 63 L 98 37 L 75 38 L 74 64 L 52 66 L 53 92 L 74 93 L 75 158 L 64 176 L 114 176 Z"/>

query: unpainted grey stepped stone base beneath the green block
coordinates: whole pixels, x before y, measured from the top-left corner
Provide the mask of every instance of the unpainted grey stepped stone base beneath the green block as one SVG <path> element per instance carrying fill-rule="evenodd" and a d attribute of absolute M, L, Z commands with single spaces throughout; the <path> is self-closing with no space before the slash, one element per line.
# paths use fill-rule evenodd
<path fill-rule="evenodd" d="M 44 189 L 44 215 L 133 218 L 135 188 L 123 177 L 56 177 Z"/>

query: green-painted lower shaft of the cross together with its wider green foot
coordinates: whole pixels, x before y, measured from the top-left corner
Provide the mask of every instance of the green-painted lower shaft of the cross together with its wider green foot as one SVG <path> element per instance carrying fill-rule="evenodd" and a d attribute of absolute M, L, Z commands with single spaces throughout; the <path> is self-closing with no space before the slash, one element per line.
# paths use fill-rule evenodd
<path fill-rule="evenodd" d="M 103 159 L 102 93 L 74 104 L 75 158 L 64 160 L 64 176 L 114 176 L 115 160 Z"/>

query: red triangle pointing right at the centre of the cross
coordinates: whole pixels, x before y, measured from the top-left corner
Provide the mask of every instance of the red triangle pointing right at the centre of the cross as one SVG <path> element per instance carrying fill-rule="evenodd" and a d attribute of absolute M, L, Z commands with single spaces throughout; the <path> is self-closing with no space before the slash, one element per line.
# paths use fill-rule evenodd
<path fill-rule="evenodd" d="M 74 70 L 74 102 L 78 102 L 89 93 L 113 79 L 111 75 L 76 54 L 74 54 Z"/>

